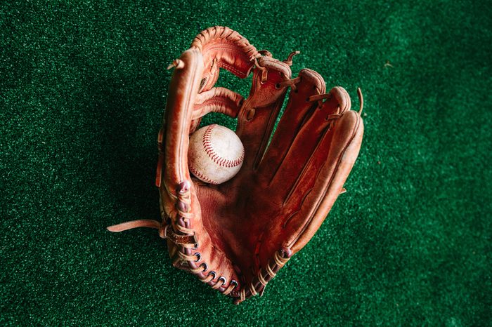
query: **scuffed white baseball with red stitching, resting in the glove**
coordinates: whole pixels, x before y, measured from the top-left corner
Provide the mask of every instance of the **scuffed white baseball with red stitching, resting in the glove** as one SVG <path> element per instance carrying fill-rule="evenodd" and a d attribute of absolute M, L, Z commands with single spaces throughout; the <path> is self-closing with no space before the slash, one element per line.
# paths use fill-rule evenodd
<path fill-rule="evenodd" d="M 233 178 L 242 166 L 245 147 L 230 129 L 212 124 L 190 137 L 188 167 L 198 179 L 221 184 Z"/>

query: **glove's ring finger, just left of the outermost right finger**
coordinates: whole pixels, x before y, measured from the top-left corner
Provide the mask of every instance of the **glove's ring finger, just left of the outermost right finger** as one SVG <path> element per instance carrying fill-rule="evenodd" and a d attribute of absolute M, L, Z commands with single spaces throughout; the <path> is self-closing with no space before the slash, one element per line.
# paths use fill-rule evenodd
<path fill-rule="evenodd" d="M 340 101 L 347 94 L 343 88 L 332 88 L 325 102 L 315 100 L 311 116 L 304 120 L 304 124 L 299 129 L 299 133 L 294 138 L 292 145 L 287 149 L 283 156 L 278 169 L 271 178 L 270 186 L 273 189 L 278 189 L 280 201 L 288 201 L 292 195 L 293 189 L 298 185 L 299 180 L 305 174 L 313 174 L 315 171 L 310 165 L 316 156 L 320 156 L 323 151 L 322 141 L 325 137 L 330 137 L 332 126 L 332 114 L 339 110 Z M 315 97 L 317 97 L 315 95 Z M 312 97 L 311 97 L 312 98 Z M 306 99 L 307 100 L 307 99 Z M 347 109 L 347 107 L 345 107 Z"/>

